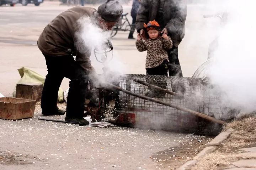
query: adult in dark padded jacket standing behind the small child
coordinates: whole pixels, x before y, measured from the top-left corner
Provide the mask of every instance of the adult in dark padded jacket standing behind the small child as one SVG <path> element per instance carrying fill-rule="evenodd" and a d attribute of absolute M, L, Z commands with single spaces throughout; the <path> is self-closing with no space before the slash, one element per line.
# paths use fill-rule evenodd
<path fill-rule="evenodd" d="M 143 24 L 157 21 L 162 33 L 168 34 L 173 47 L 168 51 L 170 76 L 182 76 L 178 60 L 178 45 L 185 35 L 185 21 L 187 16 L 186 0 L 141 0 L 137 12 L 136 29 L 145 38 Z"/>

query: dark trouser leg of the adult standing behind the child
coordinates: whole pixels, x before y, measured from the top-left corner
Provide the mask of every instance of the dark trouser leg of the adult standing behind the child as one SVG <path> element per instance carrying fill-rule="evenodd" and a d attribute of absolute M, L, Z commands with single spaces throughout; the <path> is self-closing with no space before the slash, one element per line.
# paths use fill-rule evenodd
<path fill-rule="evenodd" d="M 169 76 L 177 76 L 177 77 L 183 77 L 180 61 L 178 59 L 178 47 L 173 46 L 171 50 L 168 52 L 168 58 L 169 58 L 169 64 L 168 64 L 168 71 Z M 175 82 L 172 83 L 172 91 L 184 94 L 185 93 L 185 85 L 181 82 Z"/>

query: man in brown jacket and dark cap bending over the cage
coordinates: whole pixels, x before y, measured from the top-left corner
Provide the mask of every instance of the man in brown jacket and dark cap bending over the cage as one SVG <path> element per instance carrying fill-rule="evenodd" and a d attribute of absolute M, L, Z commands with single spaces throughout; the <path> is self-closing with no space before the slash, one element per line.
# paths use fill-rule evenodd
<path fill-rule="evenodd" d="M 57 107 L 58 89 L 64 77 L 69 78 L 69 93 L 66 108 L 66 121 L 86 123 L 83 119 L 85 96 L 88 81 L 95 74 L 91 66 L 89 47 L 80 48 L 78 43 L 81 31 L 80 18 L 88 17 L 103 30 L 111 30 L 122 15 L 123 7 L 118 0 L 106 0 L 98 10 L 77 6 L 60 13 L 44 28 L 37 41 L 48 69 L 43 86 L 41 108 L 43 115 L 63 115 Z M 88 20 L 86 20 L 88 21 Z M 87 23 L 84 23 L 85 26 Z M 80 42 L 80 41 L 79 41 Z M 85 42 L 90 43 L 90 42 Z M 76 56 L 74 60 L 73 56 Z"/>

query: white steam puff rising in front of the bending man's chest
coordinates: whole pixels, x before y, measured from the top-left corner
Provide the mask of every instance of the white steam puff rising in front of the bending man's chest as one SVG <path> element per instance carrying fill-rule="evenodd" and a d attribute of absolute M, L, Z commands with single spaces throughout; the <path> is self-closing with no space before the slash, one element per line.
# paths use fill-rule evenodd
<path fill-rule="evenodd" d="M 121 61 L 118 60 L 118 53 L 116 53 L 114 49 L 113 51 L 106 53 L 107 61 L 104 64 L 96 60 L 97 57 L 99 61 L 102 61 L 103 53 L 96 53 L 95 57 L 94 49 L 97 49 L 97 52 L 104 52 L 103 49 L 107 40 L 110 39 L 111 32 L 102 30 L 98 26 L 97 20 L 93 19 L 90 17 L 82 17 L 78 20 L 80 29 L 78 32 L 76 32 L 76 47 L 81 53 L 88 54 L 89 51 L 91 52 L 90 60 L 97 74 L 101 74 L 103 72 L 103 67 L 105 68 L 105 74 L 97 79 L 99 82 L 94 83 L 102 84 L 117 80 L 119 81 L 119 77 L 124 74 L 126 67 Z"/>

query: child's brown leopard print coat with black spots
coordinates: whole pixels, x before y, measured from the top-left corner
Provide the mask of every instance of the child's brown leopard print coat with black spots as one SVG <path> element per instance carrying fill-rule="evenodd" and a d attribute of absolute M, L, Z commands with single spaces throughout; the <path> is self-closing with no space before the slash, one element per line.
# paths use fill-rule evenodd
<path fill-rule="evenodd" d="M 166 50 L 172 48 L 172 40 L 169 36 L 168 40 L 165 40 L 161 36 L 154 40 L 146 39 L 144 42 L 137 40 L 136 47 L 138 51 L 148 51 L 146 56 L 146 68 L 154 68 L 159 66 L 164 60 L 169 62 Z"/>

